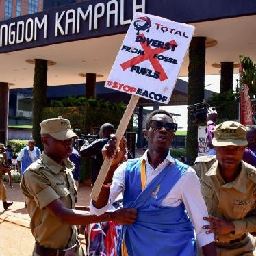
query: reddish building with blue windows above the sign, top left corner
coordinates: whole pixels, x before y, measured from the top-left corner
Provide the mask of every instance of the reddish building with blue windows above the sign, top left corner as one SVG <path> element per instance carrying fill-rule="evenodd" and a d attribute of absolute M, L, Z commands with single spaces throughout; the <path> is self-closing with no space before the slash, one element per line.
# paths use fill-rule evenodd
<path fill-rule="evenodd" d="M 43 0 L 0 0 L 0 21 L 42 11 Z"/>

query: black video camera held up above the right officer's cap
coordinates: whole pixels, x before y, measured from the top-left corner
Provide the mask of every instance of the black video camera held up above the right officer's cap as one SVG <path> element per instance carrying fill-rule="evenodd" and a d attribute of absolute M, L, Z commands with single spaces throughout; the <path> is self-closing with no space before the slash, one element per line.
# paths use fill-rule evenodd
<path fill-rule="evenodd" d="M 206 101 L 193 105 L 188 105 L 188 116 L 190 116 L 190 119 L 195 124 L 205 123 L 209 108 L 215 110 L 215 108 L 210 107 L 209 103 L 207 103 Z"/>

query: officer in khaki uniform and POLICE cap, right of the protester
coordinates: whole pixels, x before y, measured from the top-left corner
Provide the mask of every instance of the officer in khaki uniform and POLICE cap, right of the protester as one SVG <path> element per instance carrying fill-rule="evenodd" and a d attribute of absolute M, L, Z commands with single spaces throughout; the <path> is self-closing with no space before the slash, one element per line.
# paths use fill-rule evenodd
<path fill-rule="evenodd" d="M 216 156 L 198 157 L 195 170 L 211 218 L 217 255 L 256 255 L 256 168 L 242 160 L 246 127 L 227 121 L 214 128 Z"/>

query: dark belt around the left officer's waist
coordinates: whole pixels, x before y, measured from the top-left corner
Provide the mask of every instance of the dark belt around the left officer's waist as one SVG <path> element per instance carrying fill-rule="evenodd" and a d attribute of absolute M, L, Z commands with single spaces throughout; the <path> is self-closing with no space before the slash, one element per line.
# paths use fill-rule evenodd
<path fill-rule="evenodd" d="M 78 244 L 71 246 L 70 248 L 66 249 L 51 249 L 44 246 L 41 246 L 37 242 L 35 243 L 35 252 L 40 256 L 73 256 L 77 251 Z"/>

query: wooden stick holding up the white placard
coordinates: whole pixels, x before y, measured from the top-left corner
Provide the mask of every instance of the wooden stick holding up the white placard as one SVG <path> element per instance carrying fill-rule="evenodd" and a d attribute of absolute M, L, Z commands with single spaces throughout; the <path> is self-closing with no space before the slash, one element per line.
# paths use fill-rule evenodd
<path fill-rule="evenodd" d="M 131 116 L 134 112 L 134 109 L 135 109 L 139 99 L 140 99 L 139 96 L 131 95 L 129 104 L 127 105 L 125 113 L 123 114 L 123 117 L 120 120 L 120 124 L 118 125 L 118 128 L 116 130 L 117 145 L 120 144 L 120 141 L 121 141 L 123 135 L 125 134 L 127 126 L 129 124 L 129 121 L 131 120 Z M 99 197 L 99 193 L 101 192 L 102 185 L 105 181 L 105 177 L 107 176 L 107 172 L 108 172 L 108 170 L 110 170 L 111 164 L 112 164 L 112 159 L 108 159 L 107 157 L 105 157 L 104 162 L 101 166 L 101 170 L 99 171 L 97 180 L 95 181 L 94 186 L 92 188 L 92 192 L 90 194 L 90 198 L 92 200 L 97 201 L 97 199 Z"/>

